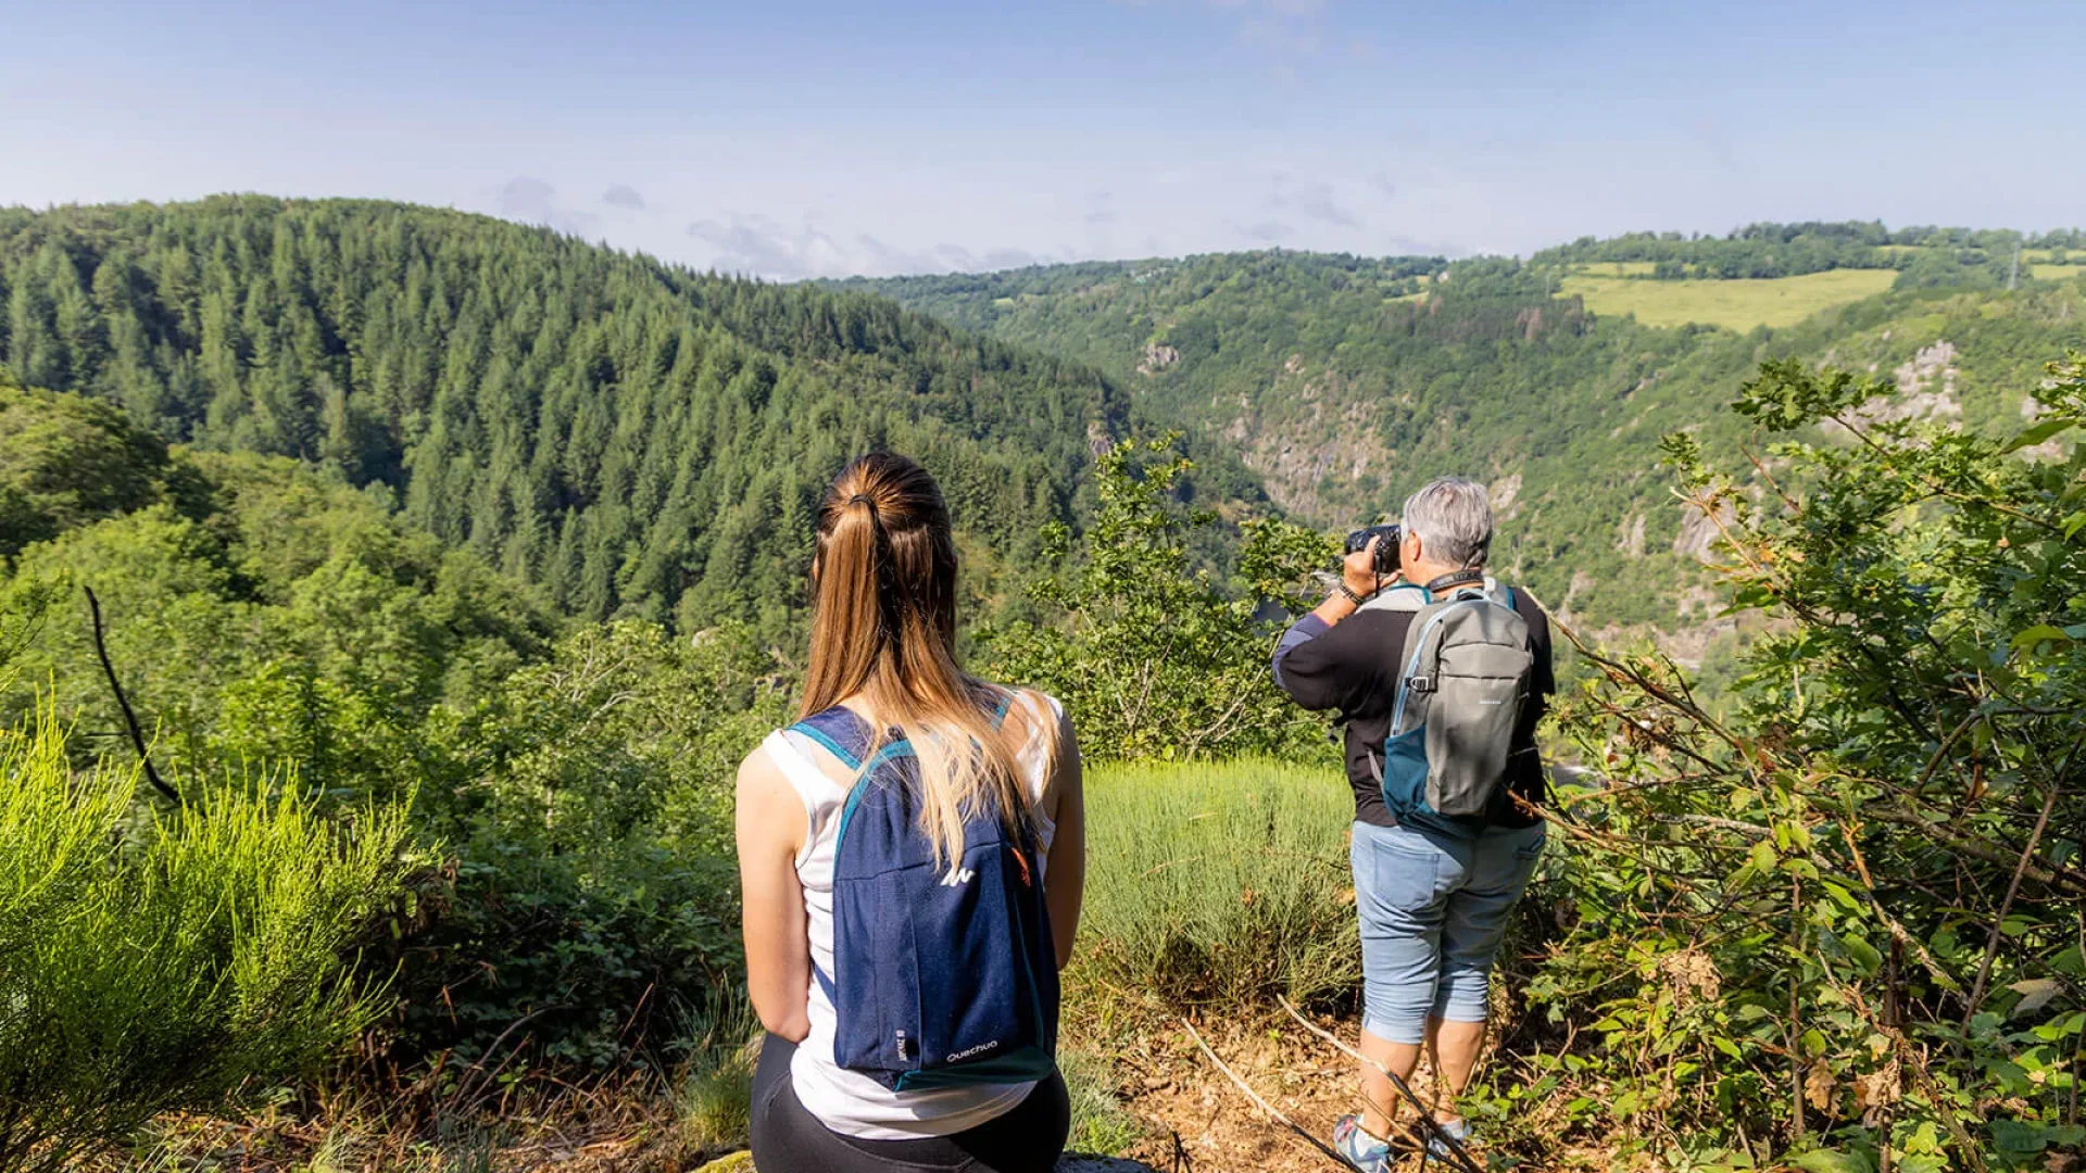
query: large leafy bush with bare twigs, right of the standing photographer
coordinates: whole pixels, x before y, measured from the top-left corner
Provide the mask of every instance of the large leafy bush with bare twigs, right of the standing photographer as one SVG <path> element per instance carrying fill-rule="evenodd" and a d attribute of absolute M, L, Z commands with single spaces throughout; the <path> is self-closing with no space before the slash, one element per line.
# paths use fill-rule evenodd
<path fill-rule="evenodd" d="M 2086 367 L 2011 438 L 1882 390 L 1767 363 L 1736 403 L 1792 436 L 1765 501 L 1669 445 L 1733 601 L 1777 622 L 1729 718 L 1658 660 L 1596 657 L 1567 710 L 1615 785 L 1567 797 L 1575 925 L 1531 996 L 1600 1039 L 1537 1064 L 1606 1083 L 1596 1131 L 1804 1169 L 2023 1169 L 2086 1135 Z"/>

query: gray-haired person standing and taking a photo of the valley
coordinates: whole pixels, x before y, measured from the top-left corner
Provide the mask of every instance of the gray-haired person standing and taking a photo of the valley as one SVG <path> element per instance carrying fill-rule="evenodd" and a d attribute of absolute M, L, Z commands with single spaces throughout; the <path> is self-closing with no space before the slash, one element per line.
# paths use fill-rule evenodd
<path fill-rule="evenodd" d="M 1381 549 L 1385 541 L 1396 543 L 1396 559 Z M 1485 574 L 1489 553 L 1485 486 L 1433 480 L 1406 499 L 1402 528 L 1383 526 L 1366 547 L 1348 553 L 1335 591 L 1275 649 L 1275 683 L 1308 710 L 1335 710 L 1348 728 L 1350 856 L 1362 920 L 1360 1050 L 1371 1062 L 1362 1064 L 1364 1110 L 1343 1117 L 1333 1140 L 1364 1173 L 1391 1165 L 1393 1087 L 1375 1064 L 1406 1079 L 1418 1064 L 1421 1046 L 1429 1048 L 1448 1094 L 1435 1108 L 1441 1131 L 1458 1142 L 1469 1135 L 1454 1098 L 1469 1083 L 1485 1042 L 1491 954 L 1544 849 L 1544 822 L 1533 812 L 1544 795 L 1535 724 L 1556 689 L 1550 620 L 1525 591 Z M 1477 605 L 1481 599 L 1498 607 Z M 1489 753 L 1498 781 L 1458 818 L 1439 816 L 1425 804 L 1387 801 L 1396 785 L 1385 783 L 1387 766 L 1393 774 L 1412 766 L 1410 743 L 1423 733 L 1410 728 L 1410 693 L 1429 693 L 1416 703 L 1431 701 L 1437 710 L 1448 697 L 1471 695 L 1412 672 L 1414 647 L 1427 643 L 1429 626 L 1423 620 L 1414 632 L 1414 618 L 1423 612 L 1433 618 L 1450 609 L 1448 601 L 1460 612 L 1485 612 L 1477 616 L 1485 630 L 1506 632 L 1487 639 L 1514 645 L 1494 651 L 1523 666 L 1502 699 L 1477 701 L 1512 708 L 1483 714 L 1491 726 L 1473 724 L 1496 731 L 1506 745 L 1479 747 L 1481 756 Z M 1416 641 L 1408 643 L 1408 635 Z M 1404 728 L 1396 728 L 1400 724 Z M 1427 745 L 1427 753 L 1435 751 Z M 1433 766 L 1423 758 L 1416 768 L 1427 776 Z M 1439 1138 L 1429 1138 L 1429 1156 L 1448 1156 Z"/>

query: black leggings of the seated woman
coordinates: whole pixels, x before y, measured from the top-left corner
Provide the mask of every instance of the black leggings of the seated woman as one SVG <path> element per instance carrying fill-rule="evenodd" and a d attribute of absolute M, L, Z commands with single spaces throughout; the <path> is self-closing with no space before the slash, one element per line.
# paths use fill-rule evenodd
<path fill-rule="evenodd" d="M 753 1071 L 753 1163 L 761 1173 L 1049 1173 L 1072 1129 L 1072 1104 L 1056 1071 L 1014 1110 L 974 1129 L 920 1140 L 855 1140 L 818 1121 L 797 1100 L 789 1058 L 797 1044 L 761 1042 Z"/>

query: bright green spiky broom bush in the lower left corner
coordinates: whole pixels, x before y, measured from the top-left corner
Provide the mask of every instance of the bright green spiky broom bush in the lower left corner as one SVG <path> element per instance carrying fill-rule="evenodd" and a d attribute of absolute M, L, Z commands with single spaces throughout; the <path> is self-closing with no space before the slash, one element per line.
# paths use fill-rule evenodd
<path fill-rule="evenodd" d="M 223 1110 L 382 1010 L 353 962 L 403 891 L 401 808 L 184 779 L 136 812 L 136 772 L 75 772 L 48 708 L 0 735 L 0 1171 Z"/>

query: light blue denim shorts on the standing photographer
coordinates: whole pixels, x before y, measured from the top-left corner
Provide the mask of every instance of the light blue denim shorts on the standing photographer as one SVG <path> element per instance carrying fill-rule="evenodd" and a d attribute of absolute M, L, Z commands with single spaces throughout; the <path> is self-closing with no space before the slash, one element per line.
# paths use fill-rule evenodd
<path fill-rule="evenodd" d="M 1485 1021 L 1491 954 L 1544 854 L 1544 824 L 1477 839 L 1354 824 L 1362 916 L 1362 1029 L 1418 1044 L 1427 1019 Z"/>

